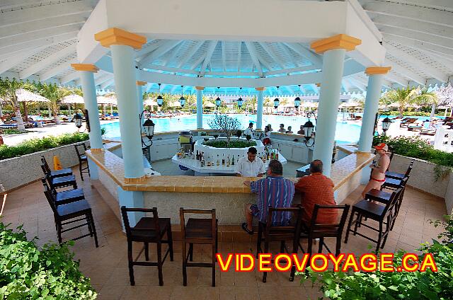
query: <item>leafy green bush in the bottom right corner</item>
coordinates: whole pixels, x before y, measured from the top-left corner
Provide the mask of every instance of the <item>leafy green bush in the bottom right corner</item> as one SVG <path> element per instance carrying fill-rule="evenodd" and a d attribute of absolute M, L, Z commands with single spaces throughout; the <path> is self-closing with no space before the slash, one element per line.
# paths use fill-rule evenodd
<path fill-rule="evenodd" d="M 439 221 L 435 222 L 437 225 Z M 301 282 L 311 281 L 319 287 L 326 299 L 453 299 L 453 219 L 446 218 L 446 232 L 442 242 L 425 243 L 418 249 L 424 254 L 432 253 L 437 272 L 333 272 L 319 273 L 307 268 L 308 272 L 299 273 Z M 394 267 L 401 266 L 403 250 L 395 253 Z"/>

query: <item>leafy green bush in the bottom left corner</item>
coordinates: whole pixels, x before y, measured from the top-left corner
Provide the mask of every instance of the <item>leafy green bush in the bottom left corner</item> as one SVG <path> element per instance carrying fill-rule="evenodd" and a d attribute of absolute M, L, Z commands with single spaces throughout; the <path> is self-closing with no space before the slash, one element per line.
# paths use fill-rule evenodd
<path fill-rule="evenodd" d="M 90 279 L 79 271 L 69 246 L 36 246 L 0 222 L 0 299 L 96 299 Z"/>

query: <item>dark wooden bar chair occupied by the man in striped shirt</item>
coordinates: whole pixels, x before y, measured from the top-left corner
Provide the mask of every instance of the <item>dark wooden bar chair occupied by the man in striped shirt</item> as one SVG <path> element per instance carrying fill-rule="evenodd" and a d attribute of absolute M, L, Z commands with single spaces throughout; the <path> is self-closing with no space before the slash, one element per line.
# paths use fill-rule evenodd
<path fill-rule="evenodd" d="M 258 223 L 258 240 L 256 243 L 256 258 L 259 253 L 269 253 L 269 243 L 273 241 L 280 242 L 280 253 L 285 253 L 285 241 L 292 241 L 292 252 L 297 253 L 299 247 L 299 236 L 302 224 L 302 207 L 278 207 L 268 208 L 268 220 L 266 223 Z M 273 214 L 283 214 L 285 212 L 292 213 L 293 219 L 290 224 L 273 224 Z M 264 252 L 261 250 L 264 233 Z M 288 252 L 288 251 L 287 251 Z M 289 252 L 288 252 L 289 253 Z M 289 281 L 294 281 L 295 265 L 291 267 Z M 263 282 L 266 282 L 268 272 L 263 272 Z"/>

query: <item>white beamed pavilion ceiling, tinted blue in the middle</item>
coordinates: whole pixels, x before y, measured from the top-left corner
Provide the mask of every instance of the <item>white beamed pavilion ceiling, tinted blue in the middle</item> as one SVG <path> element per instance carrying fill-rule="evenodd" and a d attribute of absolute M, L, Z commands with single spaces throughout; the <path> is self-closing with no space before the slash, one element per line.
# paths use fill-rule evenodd
<path fill-rule="evenodd" d="M 348 1 L 362 6 L 387 50 L 386 65 L 392 69 L 385 76 L 383 88 L 453 80 L 452 0 Z M 79 76 L 70 64 L 76 62 L 77 33 L 96 4 L 97 0 L 1 0 L 0 76 L 79 85 Z M 316 72 L 322 62 L 309 45 L 302 43 L 152 37 L 137 51 L 136 60 L 145 71 L 243 78 Z M 115 88 L 113 74 L 108 71 L 99 71 L 95 82 L 99 89 Z M 343 79 L 343 92 L 365 91 L 366 86 L 367 76 L 362 73 Z M 157 88 L 157 83 L 146 86 L 147 91 Z M 183 89 L 185 93 L 193 91 L 191 86 Z M 181 86 L 163 84 L 161 91 L 180 93 Z M 206 92 L 240 93 L 239 87 L 210 87 Z M 268 95 L 318 92 L 315 83 L 266 90 Z"/>

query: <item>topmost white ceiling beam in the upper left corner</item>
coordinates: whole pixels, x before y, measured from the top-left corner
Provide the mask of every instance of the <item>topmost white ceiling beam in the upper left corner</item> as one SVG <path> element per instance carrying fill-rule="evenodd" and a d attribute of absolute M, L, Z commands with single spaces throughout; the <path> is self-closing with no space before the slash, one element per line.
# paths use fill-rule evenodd
<path fill-rule="evenodd" d="M 70 1 L 65 3 L 35 6 L 17 11 L 1 13 L 0 27 L 13 24 L 45 20 L 57 16 L 71 16 L 79 13 L 91 13 L 95 0 Z"/>

